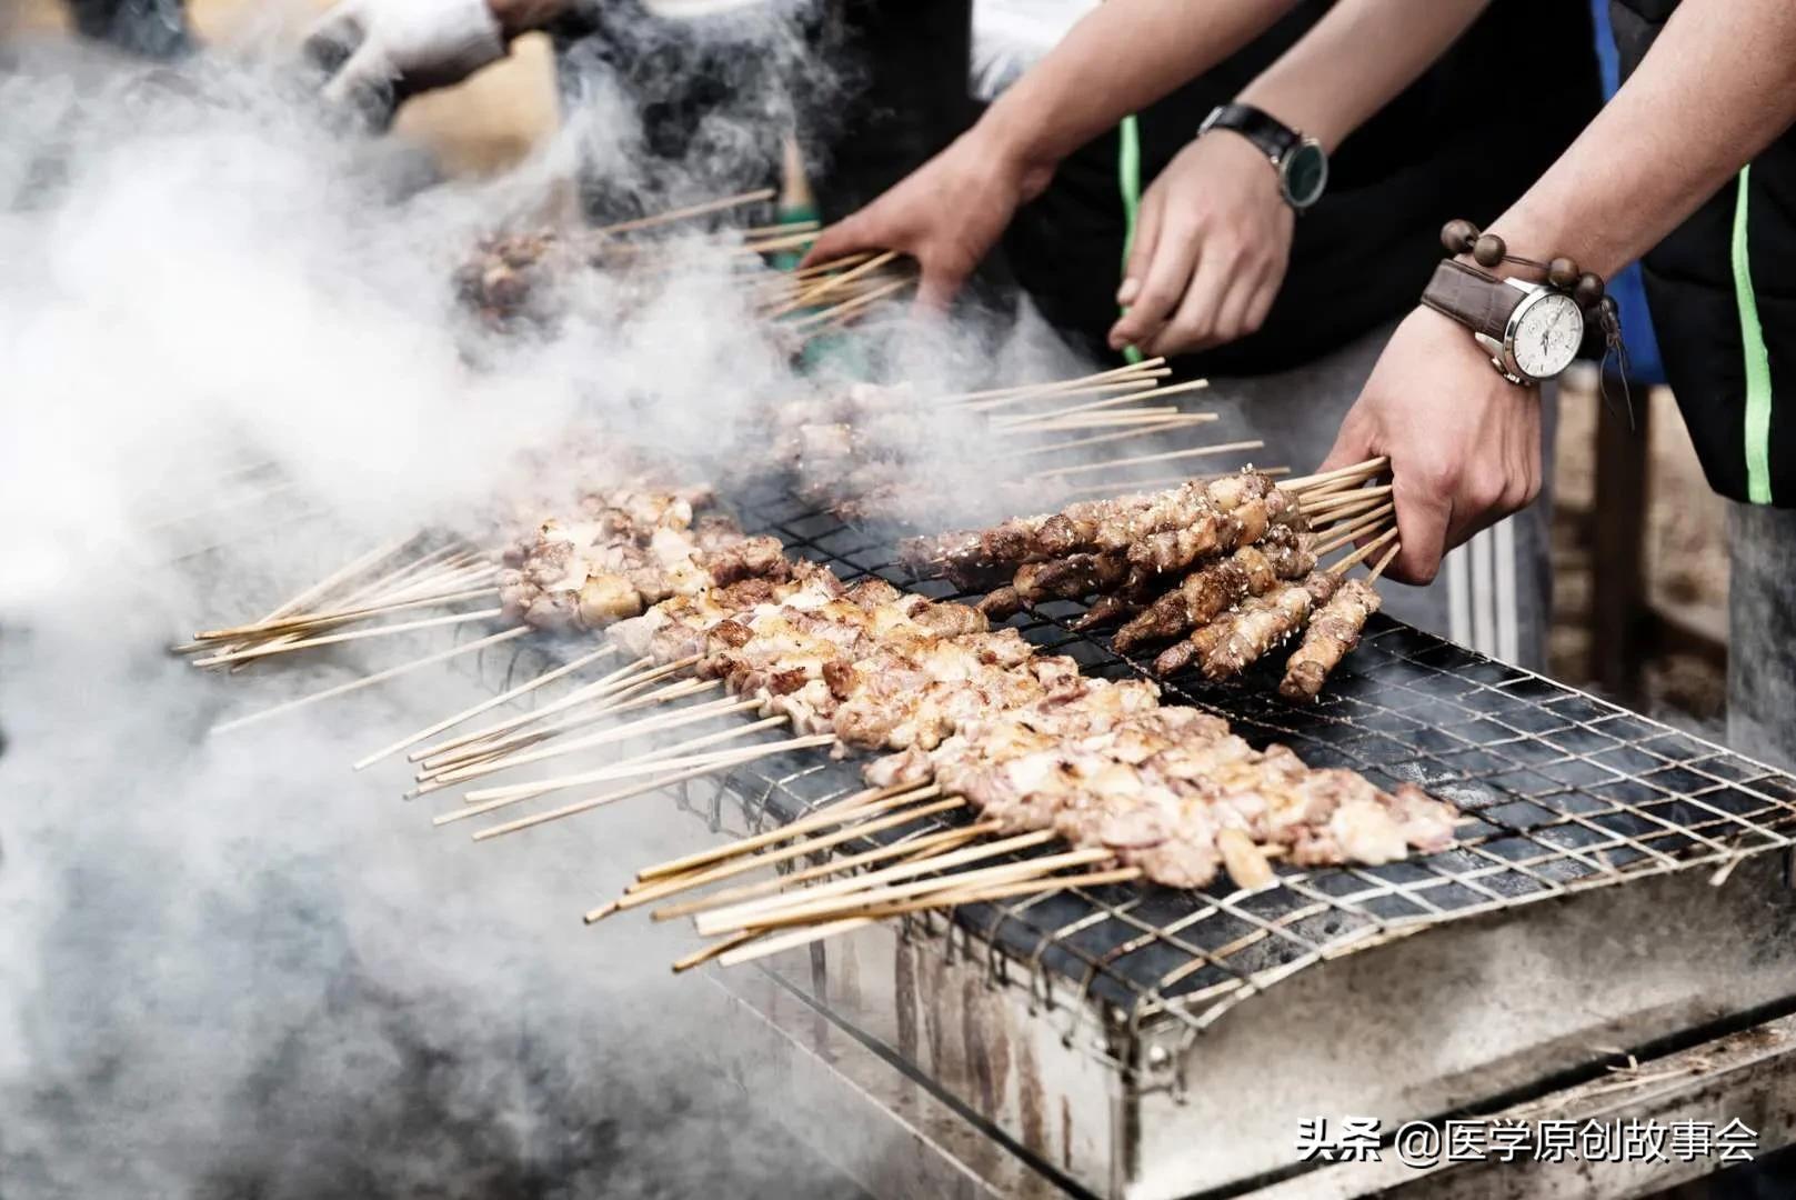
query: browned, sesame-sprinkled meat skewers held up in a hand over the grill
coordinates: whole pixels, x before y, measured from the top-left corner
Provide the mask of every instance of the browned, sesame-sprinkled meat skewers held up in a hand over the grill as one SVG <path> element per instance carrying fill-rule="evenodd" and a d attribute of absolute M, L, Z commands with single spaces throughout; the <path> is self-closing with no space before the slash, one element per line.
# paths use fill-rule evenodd
<path fill-rule="evenodd" d="M 1047 600 L 1092 600 L 1076 631 L 1119 623 L 1117 652 L 1171 643 L 1153 670 L 1228 679 L 1291 638 L 1281 693 L 1313 701 L 1379 607 L 1372 582 L 1397 553 L 1388 462 L 1275 483 L 1243 472 L 1164 492 L 1079 501 L 986 530 L 909 539 L 920 575 L 986 591 L 993 618 Z M 1322 568 L 1324 555 L 1345 551 Z M 1378 555 L 1370 578 L 1349 571 Z"/>

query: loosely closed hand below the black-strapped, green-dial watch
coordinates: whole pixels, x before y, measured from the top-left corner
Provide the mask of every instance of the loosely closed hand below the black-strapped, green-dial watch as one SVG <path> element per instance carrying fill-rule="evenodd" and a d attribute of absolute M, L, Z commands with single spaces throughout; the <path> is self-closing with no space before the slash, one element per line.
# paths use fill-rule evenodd
<path fill-rule="evenodd" d="M 1184 354 L 1255 332 L 1291 257 L 1297 214 L 1257 146 L 1200 137 L 1140 198 L 1110 349 Z"/>

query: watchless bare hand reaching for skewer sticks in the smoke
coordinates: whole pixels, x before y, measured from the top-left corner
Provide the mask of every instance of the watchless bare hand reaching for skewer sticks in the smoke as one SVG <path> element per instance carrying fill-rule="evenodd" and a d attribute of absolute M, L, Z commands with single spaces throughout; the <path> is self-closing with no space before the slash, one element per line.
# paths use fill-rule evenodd
<path fill-rule="evenodd" d="M 1040 196 L 1052 174 L 1052 167 L 1026 163 L 975 128 L 871 205 L 826 228 L 801 266 L 860 250 L 896 250 L 923 271 L 918 302 L 946 307 L 1017 208 Z"/>

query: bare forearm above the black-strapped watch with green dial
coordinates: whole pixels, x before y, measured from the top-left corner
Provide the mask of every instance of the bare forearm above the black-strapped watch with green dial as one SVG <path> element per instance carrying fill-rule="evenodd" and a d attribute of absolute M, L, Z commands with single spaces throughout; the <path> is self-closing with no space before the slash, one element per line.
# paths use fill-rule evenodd
<path fill-rule="evenodd" d="M 1345 0 L 1239 99 L 1333 153 L 1446 54 L 1487 7 L 1491 0 Z"/>

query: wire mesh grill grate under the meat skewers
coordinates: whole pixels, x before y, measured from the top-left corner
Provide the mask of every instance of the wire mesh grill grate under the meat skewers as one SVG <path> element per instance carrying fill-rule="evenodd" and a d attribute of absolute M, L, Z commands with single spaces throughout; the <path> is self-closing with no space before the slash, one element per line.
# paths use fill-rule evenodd
<path fill-rule="evenodd" d="M 846 525 L 781 490 L 751 490 L 738 508 L 751 532 L 844 578 L 875 573 L 955 596 L 893 566 L 896 530 Z M 1081 613 L 1056 602 L 1011 623 L 1087 674 L 1151 677 L 1106 636 L 1072 632 Z M 1167 701 L 1228 717 L 1255 746 L 1279 740 L 1311 765 L 1449 799 L 1469 817 L 1458 844 L 1381 868 L 1282 869 L 1279 886 L 1252 895 L 1227 880 L 1205 891 L 1130 884 L 964 905 L 954 920 L 1027 968 L 1043 995 L 1070 986 L 1131 1026 L 1175 1017 L 1203 1028 L 1311 963 L 1638 875 L 1726 871 L 1796 834 L 1796 778 L 1385 616 L 1316 706 L 1281 701 L 1275 670 L 1160 684 Z M 794 760 L 756 763 L 729 787 L 769 821 L 788 821 L 860 780 L 855 763 Z"/>

